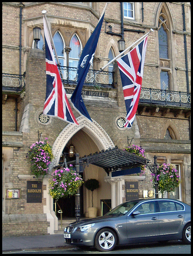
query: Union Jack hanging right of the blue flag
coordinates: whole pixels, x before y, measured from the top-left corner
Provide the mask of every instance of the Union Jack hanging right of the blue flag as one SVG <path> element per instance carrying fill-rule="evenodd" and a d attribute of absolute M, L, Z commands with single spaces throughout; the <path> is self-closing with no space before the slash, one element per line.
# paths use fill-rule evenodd
<path fill-rule="evenodd" d="M 126 105 L 126 123 L 124 127 L 131 128 L 140 98 L 142 87 L 144 60 L 148 36 L 128 54 L 117 59 L 121 76 L 124 100 Z"/>

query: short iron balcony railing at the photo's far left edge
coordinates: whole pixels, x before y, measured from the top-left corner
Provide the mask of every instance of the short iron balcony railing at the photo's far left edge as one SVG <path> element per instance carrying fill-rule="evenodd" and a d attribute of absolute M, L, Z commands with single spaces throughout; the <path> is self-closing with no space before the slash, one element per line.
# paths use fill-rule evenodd
<path fill-rule="evenodd" d="M 21 92 L 25 87 L 25 76 L 2 73 L 2 90 Z"/>

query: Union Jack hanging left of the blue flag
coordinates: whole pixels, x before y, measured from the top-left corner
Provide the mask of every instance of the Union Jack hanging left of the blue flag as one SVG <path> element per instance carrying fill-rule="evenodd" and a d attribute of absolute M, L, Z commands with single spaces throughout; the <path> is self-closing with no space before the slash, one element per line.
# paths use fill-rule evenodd
<path fill-rule="evenodd" d="M 46 95 L 43 114 L 55 116 L 69 123 L 77 123 L 66 96 L 61 77 L 55 62 L 45 18 L 43 17 L 45 36 L 45 63 L 46 63 Z"/>

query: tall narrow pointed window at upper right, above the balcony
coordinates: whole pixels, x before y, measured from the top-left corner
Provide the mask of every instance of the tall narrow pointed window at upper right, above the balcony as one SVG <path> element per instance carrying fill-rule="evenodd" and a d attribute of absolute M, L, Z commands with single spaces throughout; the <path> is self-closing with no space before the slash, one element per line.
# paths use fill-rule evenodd
<path fill-rule="evenodd" d="M 162 8 L 158 24 L 159 58 L 160 58 L 160 87 L 161 90 L 171 90 L 171 50 L 169 47 L 170 29 L 169 21 Z"/>

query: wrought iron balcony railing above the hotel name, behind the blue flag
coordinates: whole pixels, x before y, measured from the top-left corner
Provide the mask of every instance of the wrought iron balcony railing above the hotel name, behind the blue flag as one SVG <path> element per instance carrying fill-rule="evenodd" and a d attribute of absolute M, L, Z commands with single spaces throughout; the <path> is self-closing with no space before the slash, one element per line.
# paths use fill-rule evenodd
<path fill-rule="evenodd" d="M 59 73 L 64 84 L 77 84 L 77 68 L 59 66 Z M 113 72 L 89 69 L 84 86 L 114 88 Z"/>

